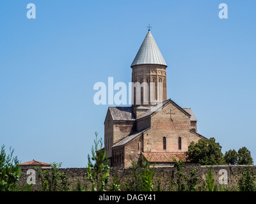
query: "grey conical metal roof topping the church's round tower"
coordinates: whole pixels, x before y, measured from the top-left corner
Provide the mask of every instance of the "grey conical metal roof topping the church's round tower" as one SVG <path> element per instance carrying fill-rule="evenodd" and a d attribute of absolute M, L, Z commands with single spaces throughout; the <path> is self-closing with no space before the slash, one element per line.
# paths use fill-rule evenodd
<path fill-rule="evenodd" d="M 134 58 L 131 67 L 138 64 L 162 64 L 167 66 L 150 31 L 148 31 L 147 36 L 141 44 L 140 50 Z"/>

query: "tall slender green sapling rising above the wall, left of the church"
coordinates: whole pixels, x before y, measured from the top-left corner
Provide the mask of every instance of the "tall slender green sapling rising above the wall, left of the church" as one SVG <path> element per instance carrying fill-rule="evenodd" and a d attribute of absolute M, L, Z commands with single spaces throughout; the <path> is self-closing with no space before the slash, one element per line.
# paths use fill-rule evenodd
<path fill-rule="evenodd" d="M 109 166 L 106 151 L 102 149 L 102 138 L 97 139 L 95 133 L 94 147 L 92 147 L 92 158 L 88 154 L 88 166 L 86 168 L 87 178 L 92 182 L 92 191 L 106 191 L 109 183 Z M 92 159 L 92 161 L 91 161 Z M 104 162 L 106 164 L 104 164 Z"/>

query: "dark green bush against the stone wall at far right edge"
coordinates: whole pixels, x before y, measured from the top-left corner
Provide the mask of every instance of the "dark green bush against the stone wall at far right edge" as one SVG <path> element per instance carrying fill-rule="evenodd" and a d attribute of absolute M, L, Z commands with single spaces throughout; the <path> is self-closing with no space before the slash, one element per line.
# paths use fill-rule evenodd
<path fill-rule="evenodd" d="M 244 171 L 240 171 L 241 177 L 238 180 L 239 191 L 256 191 L 255 178 L 256 173 L 252 168 L 247 167 Z"/>

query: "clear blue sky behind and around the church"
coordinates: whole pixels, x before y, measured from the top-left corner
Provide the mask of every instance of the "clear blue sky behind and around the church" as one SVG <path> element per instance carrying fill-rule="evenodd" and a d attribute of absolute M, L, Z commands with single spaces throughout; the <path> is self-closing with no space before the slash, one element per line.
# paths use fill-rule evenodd
<path fill-rule="evenodd" d="M 85 167 L 108 110 L 93 103 L 93 85 L 131 82 L 150 24 L 168 65 L 168 98 L 191 107 L 198 133 L 223 153 L 245 146 L 256 161 L 255 8 L 242 0 L 1 0 L 0 145 L 21 162 Z"/>

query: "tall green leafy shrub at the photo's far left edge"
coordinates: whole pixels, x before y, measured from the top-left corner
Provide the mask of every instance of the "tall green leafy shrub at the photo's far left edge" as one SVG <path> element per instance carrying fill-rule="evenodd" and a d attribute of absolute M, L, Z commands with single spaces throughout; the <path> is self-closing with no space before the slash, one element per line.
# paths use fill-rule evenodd
<path fill-rule="evenodd" d="M 10 147 L 10 154 L 6 155 L 4 145 L 0 153 L 0 191 L 14 191 L 20 177 L 20 166 L 17 156 L 13 157 Z"/>

